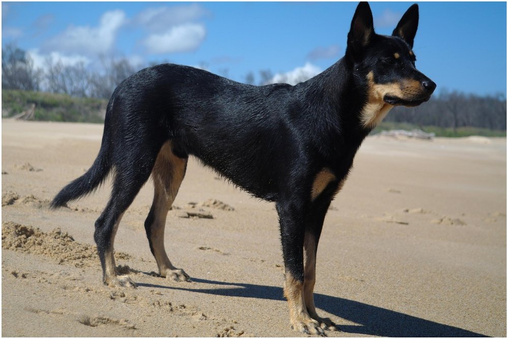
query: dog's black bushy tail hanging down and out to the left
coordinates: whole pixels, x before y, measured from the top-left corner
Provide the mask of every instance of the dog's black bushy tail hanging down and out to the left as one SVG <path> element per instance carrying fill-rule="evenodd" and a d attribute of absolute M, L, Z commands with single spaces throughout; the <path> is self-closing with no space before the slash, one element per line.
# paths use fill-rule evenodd
<path fill-rule="evenodd" d="M 99 155 L 85 174 L 71 181 L 67 184 L 67 186 L 63 187 L 60 192 L 58 192 L 58 194 L 53 198 L 53 201 L 51 201 L 51 209 L 67 207 L 67 203 L 69 201 L 76 200 L 82 196 L 92 193 L 104 182 L 104 180 L 106 180 L 112 167 L 109 159 L 109 134 L 108 124 L 105 123 Z"/>

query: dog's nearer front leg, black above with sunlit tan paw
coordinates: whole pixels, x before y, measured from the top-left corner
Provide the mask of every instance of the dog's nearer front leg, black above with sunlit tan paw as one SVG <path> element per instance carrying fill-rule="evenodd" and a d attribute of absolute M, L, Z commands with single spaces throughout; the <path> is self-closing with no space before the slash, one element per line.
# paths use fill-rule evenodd
<path fill-rule="evenodd" d="M 299 332 L 325 336 L 321 324 L 310 317 L 305 306 L 303 265 L 305 210 L 295 201 L 277 202 L 276 207 L 285 267 L 284 296 L 288 299 L 291 325 Z"/>

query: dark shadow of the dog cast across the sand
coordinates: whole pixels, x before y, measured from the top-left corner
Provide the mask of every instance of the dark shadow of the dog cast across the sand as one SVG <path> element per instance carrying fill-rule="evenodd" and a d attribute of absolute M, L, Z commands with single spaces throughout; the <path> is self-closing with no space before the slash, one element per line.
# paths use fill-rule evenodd
<path fill-rule="evenodd" d="M 206 279 L 192 278 L 199 284 L 225 285 L 226 288 L 193 288 L 180 286 L 163 286 L 139 283 L 139 286 L 185 290 L 223 296 L 261 298 L 281 300 L 282 288 L 241 283 L 226 283 Z M 184 286 L 184 285 L 181 285 Z M 340 325 L 342 331 L 377 336 L 425 336 L 425 337 L 471 337 L 486 336 L 454 326 L 439 324 L 434 321 L 410 316 L 396 311 L 372 306 L 363 302 L 348 300 L 335 296 L 314 293 L 316 307 L 337 317 L 350 320 L 358 325 Z"/>

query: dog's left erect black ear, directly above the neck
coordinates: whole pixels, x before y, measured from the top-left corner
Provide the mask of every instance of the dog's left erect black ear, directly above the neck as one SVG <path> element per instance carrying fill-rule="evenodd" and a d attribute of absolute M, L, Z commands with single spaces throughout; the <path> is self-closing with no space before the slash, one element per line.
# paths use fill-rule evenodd
<path fill-rule="evenodd" d="M 347 34 L 346 54 L 349 54 L 353 60 L 360 58 L 374 35 L 372 11 L 367 2 L 361 2 L 356 8 L 350 32 Z"/>

